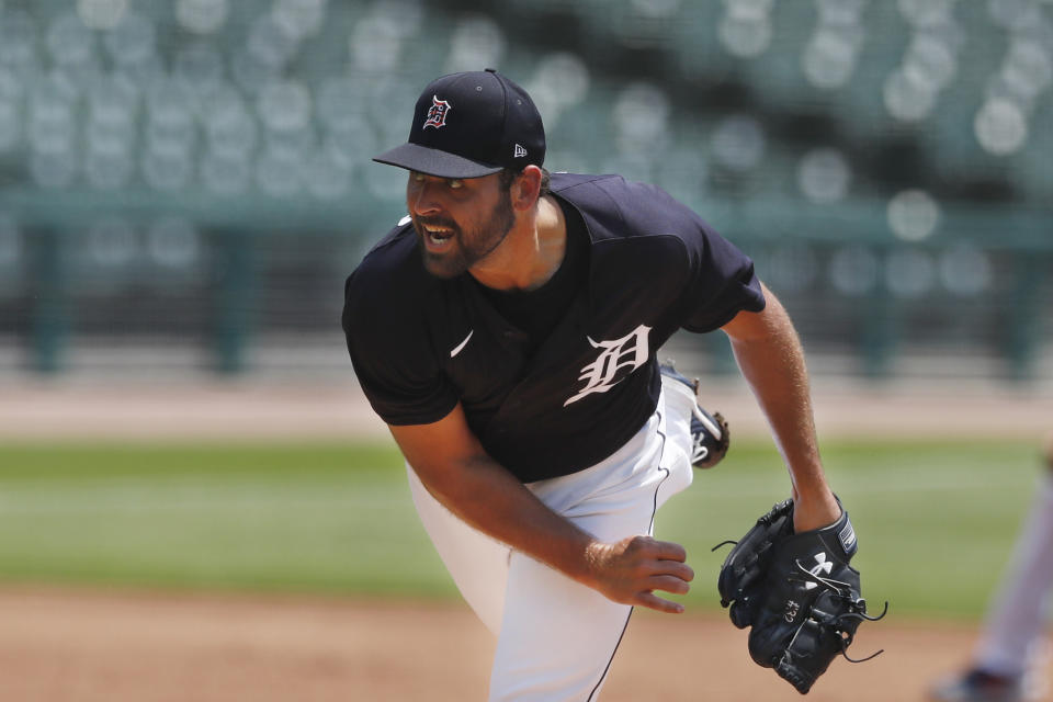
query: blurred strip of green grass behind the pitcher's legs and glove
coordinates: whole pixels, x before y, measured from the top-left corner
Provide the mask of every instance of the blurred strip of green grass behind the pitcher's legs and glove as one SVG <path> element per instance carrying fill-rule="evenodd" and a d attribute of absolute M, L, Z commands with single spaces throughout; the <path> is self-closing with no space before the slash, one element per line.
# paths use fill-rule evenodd
<path fill-rule="evenodd" d="M 1039 475 L 1007 442 L 827 443 L 872 603 L 975 619 Z M 692 608 L 718 607 L 726 550 L 789 494 L 768 443 L 740 442 L 659 511 L 688 547 Z M 412 509 L 393 445 L 0 446 L 0 581 L 455 596 Z M 872 605 L 873 609 L 873 605 Z"/>

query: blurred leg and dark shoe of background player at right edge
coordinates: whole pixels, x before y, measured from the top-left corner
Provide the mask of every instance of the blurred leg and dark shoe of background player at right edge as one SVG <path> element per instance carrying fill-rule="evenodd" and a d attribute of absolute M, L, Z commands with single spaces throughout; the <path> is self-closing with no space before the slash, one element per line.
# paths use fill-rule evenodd
<path fill-rule="evenodd" d="M 1053 433 L 1045 443 L 1045 472 L 1023 524 L 1012 561 L 984 623 L 971 666 L 932 689 L 940 702 L 1016 702 L 1039 699 L 1043 680 L 1029 670 L 1044 643 L 1053 590 Z"/>

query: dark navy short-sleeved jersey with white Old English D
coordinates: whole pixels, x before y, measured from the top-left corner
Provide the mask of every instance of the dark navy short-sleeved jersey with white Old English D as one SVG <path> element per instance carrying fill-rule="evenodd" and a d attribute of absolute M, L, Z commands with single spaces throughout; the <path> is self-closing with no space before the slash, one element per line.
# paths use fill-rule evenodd
<path fill-rule="evenodd" d="M 384 421 L 434 422 L 460 401 L 483 446 L 524 483 L 587 468 L 629 441 L 655 410 L 655 352 L 675 331 L 765 307 L 752 261 L 663 190 L 554 173 L 552 194 L 585 223 L 587 280 L 536 348 L 468 273 L 428 273 L 408 219 L 344 287 L 348 351 Z"/>

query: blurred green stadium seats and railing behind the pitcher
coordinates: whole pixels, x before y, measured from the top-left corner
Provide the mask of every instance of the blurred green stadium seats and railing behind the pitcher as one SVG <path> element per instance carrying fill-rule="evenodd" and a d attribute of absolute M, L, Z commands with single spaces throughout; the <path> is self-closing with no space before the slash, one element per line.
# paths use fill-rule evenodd
<path fill-rule="evenodd" d="M 9 0 L 8 370 L 339 344 L 342 279 L 401 206 L 370 157 L 422 84 L 484 66 L 537 99 L 553 170 L 661 184 L 854 372 L 1053 353 L 1051 2 Z"/>

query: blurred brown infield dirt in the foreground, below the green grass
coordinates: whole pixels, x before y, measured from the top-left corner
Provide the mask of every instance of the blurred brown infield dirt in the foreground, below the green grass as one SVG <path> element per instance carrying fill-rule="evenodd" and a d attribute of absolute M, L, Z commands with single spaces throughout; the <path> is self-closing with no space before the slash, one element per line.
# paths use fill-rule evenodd
<path fill-rule="evenodd" d="M 253 702 L 486 698 L 492 642 L 461 604 L 69 590 L 0 591 L 0 699 L 20 702 Z M 816 702 L 910 702 L 966 659 L 974 631 L 868 624 Z M 717 613 L 637 611 L 605 702 L 802 699 L 746 653 Z"/>

